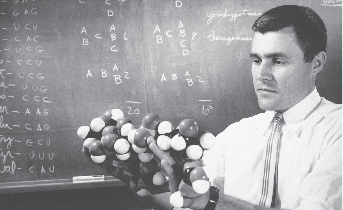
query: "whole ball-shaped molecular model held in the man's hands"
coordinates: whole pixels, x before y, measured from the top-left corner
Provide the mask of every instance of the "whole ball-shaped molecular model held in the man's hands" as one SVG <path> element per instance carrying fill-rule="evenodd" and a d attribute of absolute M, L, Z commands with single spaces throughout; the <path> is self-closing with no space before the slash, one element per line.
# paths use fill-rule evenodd
<path fill-rule="evenodd" d="M 184 197 L 197 198 L 210 188 L 201 157 L 214 145 L 215 137 L 208 131 L 199 132 L 197 122 L 192 119 L 182 120 L 174 129 L 169 121 L 161 121 L 156 113 L 148 113 L 135 129 L 120 109 L 112 109 L 94 118 L 90 126 L 81 126 L 78 136 L 84 141 L 83 147 L 89 150 L 94 163 L 104 162 L 106 156 L 121 162 L 123 168 L 133 175 L 130 186 L 139 196 L 149 195 L 145 188 L 166 182 L 161 164 L 149 149 L 153 140 L 183 165 L 184 178 L 179 191 L 170 197 L 174 207 L 187 205 Z"/>

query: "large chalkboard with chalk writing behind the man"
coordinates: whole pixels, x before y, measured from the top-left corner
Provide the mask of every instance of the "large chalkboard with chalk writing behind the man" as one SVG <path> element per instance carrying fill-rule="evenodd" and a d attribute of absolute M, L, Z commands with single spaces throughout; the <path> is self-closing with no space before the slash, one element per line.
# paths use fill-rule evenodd
<path fill-rule="evenodd" d="M 282 4 L 314 9 L 328 29 L 321 96 L 342 103 L 342 1 L 1 1 L 0 193 L 81 188 L 102 175 L 76 134 L 119 108 L 138 127 L 155 112 L 215 135 L 262 112 L 251 26 Z M 106 178 L 94 186 L 122 185 Z"/>

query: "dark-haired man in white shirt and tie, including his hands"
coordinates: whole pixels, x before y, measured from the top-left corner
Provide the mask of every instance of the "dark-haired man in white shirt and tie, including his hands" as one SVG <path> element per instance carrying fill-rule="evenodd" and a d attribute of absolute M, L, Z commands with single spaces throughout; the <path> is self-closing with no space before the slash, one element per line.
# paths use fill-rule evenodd
<path fill-rule="evenodd" d="M 256 20 L 251 73 L 265 113 L 228 126 L 203 157 L 212 185 L 220 188 L 216 206 L 211 192 L 184 198 L 191 209 L 342 209 L 342 105 L 321 98 L 315 87 L 326 62 L 326 28 L 311 9 L 276 7 Z M 274 120 L 273 120 L 274 119 Z M 178 190 L 175 161 L 154 142 L 151 150 Z M 122 170 L 105 164 L 118 177 Z M 161 197 L 143 200 L 171 209 Z M 207 206 L 206 206 L 207 205 Z"/>

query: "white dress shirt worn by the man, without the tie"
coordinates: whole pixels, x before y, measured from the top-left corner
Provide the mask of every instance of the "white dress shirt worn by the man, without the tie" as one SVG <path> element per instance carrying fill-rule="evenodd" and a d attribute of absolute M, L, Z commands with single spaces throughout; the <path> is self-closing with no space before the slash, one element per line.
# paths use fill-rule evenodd
<path fill-rule="evenodd" d="M 274 114 L 266 111 L 229 125 L 204 154 L 206 174 L 225 194 L 258 205 L 262 151 Z M 275 208 L 342 209 L 342 104 L 314 89 L 283 113 L 280 129 Z"/>

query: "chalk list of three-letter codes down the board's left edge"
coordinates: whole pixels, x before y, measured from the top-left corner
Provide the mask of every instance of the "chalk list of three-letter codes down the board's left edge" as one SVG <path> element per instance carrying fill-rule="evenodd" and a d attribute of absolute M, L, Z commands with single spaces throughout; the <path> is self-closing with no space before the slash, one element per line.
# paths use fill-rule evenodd
<path fill-rule="evenodd" d="M 31 11 L 31 13 L 30 13 Z M 37 15 L 37 9 L 36 8 L 32 8 L 31 10 L 29 9 L 25 9 L 25 10 L 14 10 L 13 12 L 13 16 L 19 16 L 19 15 Z M 41 58 L 37 58 L 35 56 L 37 56 L 38 54 L 44 54 L 45 49 L 44 47 L 42 47 L 39 42 L 41 39 L 41 36 L 38 31 L 38 24 L 35 23 L 21 23 L 21 22 L 15 22 L 13 24 L 13 28 L 14 28 L 14 32 L 18 31 L 25 31 L 25 33 L 21 33 L 22 35 L 17 35 L 17 34 L 13 34 L 12 37 L 14 37 L 14 42 L 16 42 L 17 44 L 23 44 L 26 43 L 29 46 L 25 46 L 25 45 L 19 45 L 18 47 L 16 46 L 15 48 L 11 49 L 13 52 L 15 50 L 15 52 L 18 54 L 18 58 L 13 60 L 13 65 L 10 65 L 9 67 L 12 69 L 10 69 L 10 71 L 13 71 L 13 73 L 11 72 L 11 74 L 6 74 L 6 75 L 15 75 L 16 78 L 19 78 L 19 82 L 42 82 L 46 79 L 46 73 L 43 73 L 43 70 L 46 69 L 40 69 L 40 67 L 42 66 L 42 63 L 44 61 L 42 61 Z M 23 35 L 25 34 L 25 35 Z M 35 45 L 37 44 L 37 45 Z M 39 45 L 39 46 L 38 46 Z M 24 51 L 24 53 L 28 53 L 28 56 L 25 56 L 25 59 L 23 59 L 23 57 L 20 56 L 19 53 L 22 52 L 22 50 Z M 37 53 L 37 54 L 36 54 Z M 44 56 L 44 55 L 43 55 Z M 5 60 L 5 62 L 7 62 L 8 64 L 11 64 L 11 60 Z M 0 63 L 3 63 L 3 60 L 0 61 Z M 24 67 L 25 69 L 22 70 L 18 70 L 16 71 L 16 68 L 14 68 L 15 66 L 18 67 Z M 7 73 L 7 69 L 4 69 L 2 71 L 0 71 L 0 77 L 4 77 L 4 73 Z M 4 78 L 5 80 L 7 78 Z M 15 80 L 16 81 L 16 80 Z M 0 84 L 1 85 L 1 84 Z M 27 116 L 25 119 L 29 120 L 28 122 L 22 122 L 22 125 L 17 124 L 17 125 L 10 125 L 9 123 L 5 123 L 4 122 L 4 116 L 0 116 L 0 128 L 7 128 L 7 129 L 20 129 L 20 131 L 22 131 L 23 129 L 30 131 L 30 132 L 42 132 L 42 131 L 46 131 L 49 130 L 51 128 L 51 126 L 49 125 L 49 123 L 42 123 L 42 122 L 35 122 L 32 121 L 30 119 L 32 119 L 30 116 L 31 115 L 35 115 L 35 116 L 48 116 L 49 115 L 49 108 L 47 108 L 45 105 L 39 105 L 41 107 L 36 107 L 32 108 L 32 103 L 37 103 L 37 102 L 43 102 L 45 104 L 49 104 L 52 103 L 52 100 L 50 100 L 47 96 L 44 95 L 39 95 L 39 93 L 47 93 L 48 88 L 43 85 L 28 85 L 28 84 L 3 84 L 3 87 L 7 86 L 9 87 L 16 87 L 17 85 L 19 85 L 21 87 L 21 90 L 23 91 L 19 91 L 22 92 L 22 96 L 21 99 L 23 101 L 25 101 L 27 104 L 26 108 L 20 108 L 20 110 L 12 110 L 11 112 L 8 110 L 8 107 L 11 106 L 0 106 L 0 113 L 8 113 L 9 115 L 11 114 L 15 114 L 15 115 L 19 115 L 20 116 Z M 20 89 L 20 88 L 19 88 Z M 29 94 L 28 91 L 33 91 L 36 92 L 34 95 Z M 25 92 L 25 93 L 24 93 Z M 27 94 L 27 95 L 25 95 Z M 1 98 L 15 98 L 14 96 L 9 96 L 9 95 L 5 95 L 2 94 Z M 20 97 L 19 99 L 20 100 Z M 10 101 L 7 101 L 10 102 Z M 14 101 L 13 101 L 14 102 Z M 12 103 L 12 102 L 11 102 Z M 40 103 L 42 104 L 42 103 Z M 26 106 L 26 105 L 24 105 Z M 30 107 L 30 108 L 28 108 Z M 10 116 L 11 117 L 11 116 Z M 42 118 L 43 119 L 43 118 Z M 35 134 L 35 136 L 39 136 L 37 134 Z M 39 138 L 39 137 L 38 137 Z M 4 136 L 1 135 L 0 136 L 0 143 L 4 142 L 7 143 L 7 149 L 10 149 L 12 146 L 12 142 L 17 142 L 17 143 L 21 143 L 21 141 L 19 140 L 14 140 L 14 137 L 8 137 L 8 136 Z M 24 141 L 25 142 L 25 141 Z M 50 138 L 47 139 L 39 139 L 39 140 L 27 140 L 26 141 L 26 145 L 28 147 L 31 147 L 33 144 L 36 144 L 37 146 L 39 146 L 39 148 L 43 148 L 43 146 L 49 146 L 51 143 Z M 35 147 L 33 147 L 33 149 L 35 149 Z M 46 151 L 37 151 L 36 152 L 36 159 L 39 160 L 52 160 L 54 158 L 54 152 L 50 151 L 50 152 L 46 152 Z M 21 170 L 22 168 L 16 168 L 16 163 L 15 161 L 12 161 L 12 165 L 5 165 L 6 164 L 6 160 L 8 158 L 16 158 L 17 156 L 20 155 L 27 155 L 28 158 L 30 159 L 34 159 L 34 154 L 35 151 L 31 151 L 28 154 L 22 154 L 22 153 L 18 153 L 15 152 L 13 153 L 12 151 L 1 151 L 0 149 L 0 158 L 2 158 L 2 165 L 0 167 L 0 173 L 10 173 L 10 174 L 14 174 L 15 170 Z M 34 162 L 32 162 L 32 164 L 35 164 Z M 3 167 L 3 169 L 2 169 Z M 26 170 L 29 170 L 30 172 L 33 171 L 34 167 L 33 166 L 28 165 L 28 168 Z M 36 164 L 35 164 L 36 167 Z M 39 166 L 37 166 L 39 167 Z M 46 166 L 44 166 L 46 167 Z M 46 170 L 42 166 L 41 170 L 40 170 L 40 174 L 46 174 Z M 49 171 L 50 172 L 54 172 L 55 168 L 50 166 Z M 47 171 L 48 172 L 48 171 Z"/>

